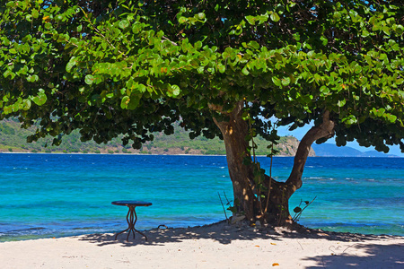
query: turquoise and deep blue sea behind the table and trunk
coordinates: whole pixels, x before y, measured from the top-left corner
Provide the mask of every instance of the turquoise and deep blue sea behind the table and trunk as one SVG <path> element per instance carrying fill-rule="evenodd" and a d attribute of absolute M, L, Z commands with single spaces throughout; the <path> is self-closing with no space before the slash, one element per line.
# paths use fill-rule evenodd
<path fill-rule="evenodd" d="M 270 159 L 259 161 L 269 173 Z M 285 180 L 292 165 L 276 157 L 271 174 Z M 404 158 L 309 158 L 291 212 L 314 198 L 307 227 L 404 236 Z M 0 154 L 0 241 L 124 230 L 119 200 L 153 203 L 136 208 L 138 230 L 222 221 L 233 200 L 225 157 Z"/>

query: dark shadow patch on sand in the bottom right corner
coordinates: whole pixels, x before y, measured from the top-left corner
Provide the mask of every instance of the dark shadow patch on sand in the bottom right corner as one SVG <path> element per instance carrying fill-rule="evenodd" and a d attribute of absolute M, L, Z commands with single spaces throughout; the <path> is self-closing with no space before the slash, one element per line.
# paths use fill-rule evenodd
<path fill-rule="evenodd" d="M 349 247 L 329 247 L 331 255 L 303 258 L 317 265 L 315 268 L 404 268 L 404 246 L 402 244 L 361 244 Z"/>

